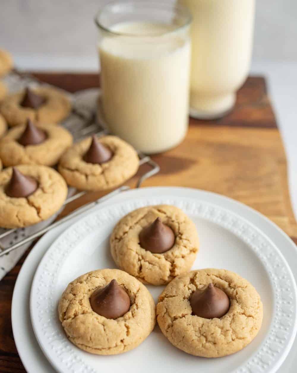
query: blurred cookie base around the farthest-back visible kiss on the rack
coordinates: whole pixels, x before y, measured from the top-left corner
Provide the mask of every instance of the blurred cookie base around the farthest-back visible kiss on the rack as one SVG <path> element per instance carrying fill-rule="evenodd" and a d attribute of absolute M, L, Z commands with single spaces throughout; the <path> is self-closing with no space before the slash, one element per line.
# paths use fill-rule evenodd
<path fill-rule="evenodd" d="M 62 91 L 52 87 L 30 88 L 30 90 L 44 101 L 35 109 L 21 106 L 25 91 L 8 95 L 1 102 L 0 112 L 9 126 L 24 124 L 27 119 L 37 123 L 56 124 L 69 115 L 71 103 Z"/>

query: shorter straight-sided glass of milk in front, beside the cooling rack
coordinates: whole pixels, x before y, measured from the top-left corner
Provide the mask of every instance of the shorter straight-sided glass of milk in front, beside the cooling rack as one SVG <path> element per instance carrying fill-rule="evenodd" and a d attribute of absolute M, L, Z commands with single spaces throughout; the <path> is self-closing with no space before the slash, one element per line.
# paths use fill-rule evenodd
<path fill-rule="evenodd" d="M 144 153 L 178 145 L 188 128 L 187 8 L 151 1 L 107 4 L 99 28 L 100 106 L 109 130 Z"/>

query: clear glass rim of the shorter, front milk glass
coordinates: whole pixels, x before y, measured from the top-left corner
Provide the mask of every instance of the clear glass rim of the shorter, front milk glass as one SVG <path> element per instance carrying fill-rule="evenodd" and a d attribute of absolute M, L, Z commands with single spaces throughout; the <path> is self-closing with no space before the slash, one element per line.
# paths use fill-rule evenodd
<path fill-rule="evenodd" d="M 119 32 L 119 31 L 113 31 L 112 28 L 110 27 L 106 27 L 106 26 L 103 26 L 100 21 L 99 21 L 99 17 L 101 16 L 101 14 L 104 12 L 104 10 L 106 10 L 106 8 L 108 7 L 111 7 L 111 6 L 116 6 L 116 5 L 137 5 L 137 6 L 150 6 L 150 7 L 153 7 L 155 6 L 156 8 L 157 7 L 163 7 L 163 9 L 168 9 L 168 10 L 171 10 L 171 9 L 176 9 L 176 10 L 180 10 L 184 13 L 185 15 L 185 21 L 183 23 L 181 23 L 181 25 L 177 25 L 176 28 L 173 28 L 173 29 L 170 29 L 168 31 L 165 31 L 165 32 L 162 32 L 160 34 L 148 34 L 146 36 L 150 36 L 152 38 L 154 37 L 160 37 L 162 35 L 168 35 L 168 34 L 171 34 L 173 32 L 176 32 L 176 31 L 179 31 L 179 30 L 182 30 L 183 28 L 186 28 L 187 26 L 190 25 L 190 23 L 192 22 L 192 16 L 191 16 L 191 13 L 190 11 L 188 10 L 187 7 L 185 7 L 184 5 L 182 4 L 169 4 L 169 3 L 165 3 L 165 2 L 156 2 L 156 1 L 134 1 L 134 0 L 129 0 L 129 1 L 126 1 L 126 0 L 116 0 L 116 1 L 111 1 L 107 4 L 105 4 L 97 13 L 96 13 L 96 16 L 94 18 L 94 21 L 97 25 L 97 27 L 99 29 L 101 29 L 102 31 L 105 31 L 105 32 L 108 32 L 110 34 L 113 34 L 113 35 L 116 35 L 116 36 L 126 36 L 126 37 L 131 37 L 131 38 L 137 38 L 137 37 L 143 37 L 144 35 L 143 34 L 129 34 L 129 33 L 125 33 L 125 32 Z"/>

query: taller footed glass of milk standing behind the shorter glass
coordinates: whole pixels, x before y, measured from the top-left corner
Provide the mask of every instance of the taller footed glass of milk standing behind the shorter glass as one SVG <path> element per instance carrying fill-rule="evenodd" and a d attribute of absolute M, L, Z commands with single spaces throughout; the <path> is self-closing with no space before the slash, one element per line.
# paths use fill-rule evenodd
<path fill-rule="evenodd" d="M 190 9 L 190 114 L 221 117 L 232 109 L 250 67 L 255 0 L 178 0 Z"/>

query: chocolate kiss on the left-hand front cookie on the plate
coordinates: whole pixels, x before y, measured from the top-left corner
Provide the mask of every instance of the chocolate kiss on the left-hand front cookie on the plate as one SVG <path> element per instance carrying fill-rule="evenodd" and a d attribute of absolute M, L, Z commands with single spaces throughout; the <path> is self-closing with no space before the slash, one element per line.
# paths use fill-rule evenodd
<path fill-rule="evenodd" d="M 99 288 L 90 297 L 90 304 L 94 312 L 106 319 L 117 319 L 123 316 L 130 308 L 130 298 L 116 280 L 104 288 Z"/>

